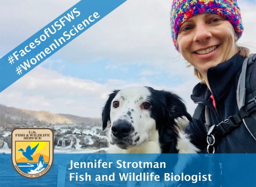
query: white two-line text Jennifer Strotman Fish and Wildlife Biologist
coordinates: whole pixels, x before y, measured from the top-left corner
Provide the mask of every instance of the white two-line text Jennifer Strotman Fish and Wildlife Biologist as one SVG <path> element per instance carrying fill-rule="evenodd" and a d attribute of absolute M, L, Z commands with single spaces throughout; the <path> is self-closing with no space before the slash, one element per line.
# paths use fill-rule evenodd
<path fill-rule="evenodd" d="M 109 168 L 116 168 L 116 171 L 118 169 L 124 170 L 127 168 L 137 169 L 138 171 L 142 172 L 128 172 L 128 173 L 117 173 L 113 172 L 111 174 L 106 175 L 99 175 L 94 174 L 91 175 L 87 172 L 81 174 L 78 172 L 75 173 L 69 173 L 69 181 L 115 181 L 115 175 L 119 176 L 120 181 L 190 181 L 192 183 L 197 183 L 198 181 L 211 181 L 211 174 L 195 174 L 195 175 L 188 175 L 185 173 L 181 173 L 180 175 L 171 173 L 164 173 L 164 176 L 160 176 L 158 174 L 155 174 L 155 172 L 146 172 L 146 169 L 154 168 L 161 169 L 166 168 L 165 162 L 126 162 L 123 160 L 116 160 L 116 163 L 113 164 L 113 162 L 103 162 L 102 159 L 94 160 L 94 162 L 73 162 L 73 160 L 70 160 L 70 167 L 69 170 L 72 170 L 74 168 L 100 168 L 100 169 L 109 169 Z M 107 171 L 107 170 L 106 170 Z M 135 170 L 137 171 L 137 170 Z M 150 171 L 153 171 L 150 169 Z M 108 171 L 107 171 L 108 172 Z M 93 176 L 93 177 L 92 177 Z"/>

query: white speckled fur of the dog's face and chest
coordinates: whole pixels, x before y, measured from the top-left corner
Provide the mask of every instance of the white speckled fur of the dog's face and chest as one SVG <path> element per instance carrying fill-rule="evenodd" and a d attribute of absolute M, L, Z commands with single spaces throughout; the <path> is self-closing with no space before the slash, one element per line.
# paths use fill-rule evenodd
<path fill-rule="evenodd" d="M 120 90 L 112 100 L 112 104 L 114 101 L 119 101 L 119 107 L 115 108 L 111 105 L 110 109 L 109 153 L 161 153 L 156 122 L 150 117 L 150 111 L 141 107 L 143 103 L 147 102 L 150 94 L 146 87 L 129 87 Z M 125 148 L 116 144 L 116 137 L 111 131 L 111 126 L 117 120 L 128 121 L 134 128 L 127 141 L 124 142 L 129 142 Z M 179 137 L 177 144 L 179 153 L 198 152 L 198 149 L 189 141 L 186 134 L 179 133 Z"/>

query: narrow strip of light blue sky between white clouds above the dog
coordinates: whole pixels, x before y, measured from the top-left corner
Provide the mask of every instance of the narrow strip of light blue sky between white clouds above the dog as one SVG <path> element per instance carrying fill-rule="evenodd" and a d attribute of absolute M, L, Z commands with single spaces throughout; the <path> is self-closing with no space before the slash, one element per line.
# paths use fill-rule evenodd
<path fill-rule="evenodd" d="M 152 84 L 161 83 L 170 87 L 184 82 L 182 76 L 163 72 L 156 65 L 146 63 L 118 64 L 110 61 L 106 59 L 91 63 L 70 63 L 58 59 L 52 63 L 43 63 L 42 67 L 60 72 L 65 76 L 90 79 L 101 84 L 105 84 L 109 79 L 139 83 L 143 78 L 147 78 Z"/>

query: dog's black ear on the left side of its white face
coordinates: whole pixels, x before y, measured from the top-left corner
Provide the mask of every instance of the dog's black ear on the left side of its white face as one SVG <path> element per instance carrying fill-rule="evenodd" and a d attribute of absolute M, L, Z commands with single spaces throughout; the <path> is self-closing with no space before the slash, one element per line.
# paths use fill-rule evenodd
<path fill-rule="evenodd" d="M 102 129 L 105 130 L 108 122 L 110 122 L 110 107 L 111 107 L 111 103 L 112 100 L 116 97 L 117 93 L 120 90 L 114 90 L 112 94 L 109 94 L 108 100 L 106 101 L 105 106 L 102 109 L 102 114 L 101 114 L 101 118 L 102 118 Z"/>

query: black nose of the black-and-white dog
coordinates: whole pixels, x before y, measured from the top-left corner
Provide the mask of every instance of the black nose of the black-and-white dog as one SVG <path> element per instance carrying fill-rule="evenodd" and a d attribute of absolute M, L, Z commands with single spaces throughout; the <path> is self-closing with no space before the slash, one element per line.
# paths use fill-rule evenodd
<path fill-rule="evenodd" d="M 126 120 L 117 120 L 112 125 L 112 133 L 117 138 L 124 138 L 129 135 L 132 125 Z"/>

